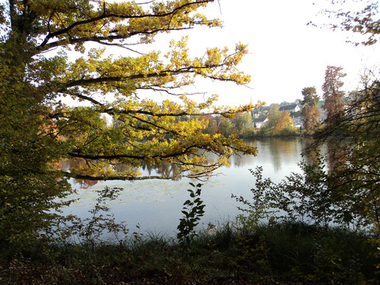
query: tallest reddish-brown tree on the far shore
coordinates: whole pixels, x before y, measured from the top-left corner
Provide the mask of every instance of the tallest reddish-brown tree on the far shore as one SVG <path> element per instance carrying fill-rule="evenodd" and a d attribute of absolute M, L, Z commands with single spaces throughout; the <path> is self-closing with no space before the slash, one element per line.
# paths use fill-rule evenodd
<path fill-rule="evenodd" d="M 342 67 L 327 66 L 322 86 L 324 97 L 324 109 L 327 112 L 327 120 L 330 120 L 334 114 L 343 110 L 344 92 L 339 90 L 343 86 L 341 81 L 346 73 L 342 73 Z"/>

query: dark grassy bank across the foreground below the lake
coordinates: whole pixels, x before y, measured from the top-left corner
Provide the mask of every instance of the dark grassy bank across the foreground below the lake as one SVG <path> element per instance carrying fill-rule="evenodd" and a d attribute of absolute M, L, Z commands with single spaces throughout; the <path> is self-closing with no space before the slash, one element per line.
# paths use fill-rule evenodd
<path fill-rule="evenodd" d="M 160 236 L 118 244 L 2 247 L 0 284 L 376 284 L 366 234 L 299 222 L 204 231 L 190 247 Z"/>

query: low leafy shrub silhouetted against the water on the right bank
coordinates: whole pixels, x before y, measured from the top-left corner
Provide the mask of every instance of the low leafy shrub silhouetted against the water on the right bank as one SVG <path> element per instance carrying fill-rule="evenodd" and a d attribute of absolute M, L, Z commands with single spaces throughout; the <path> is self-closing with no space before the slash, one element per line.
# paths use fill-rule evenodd
<path fill-rule="evenodd" d="M 238 201 L 248 208 L 243 220 L 257 224 L 260 219 L 281 217 L 302 222 L 313 222 L 328 226 L 332 222 L 356 229 L 369 226 L 376 229 L 376 198 L 366 188 L 351 188 L 339 182 L 339 173 L 328 172 L 322 157 L 315 158 L 316 163 L 308 165 L 301 162 L 302 173 L 292 173 L 279 183 L 269 178 L 262 180 L 262 167 L 251 171 L 255 176 L 256 188 L 252 189 L 253 202 L 243 197 Z M 342 180 L 342 177 L 340 178 Z M 365 185 L 366 182 L 363 181 Z M 376 192 L 376 190 L 375 190 Z M 364 197 L 368 197 L 364 199 Z M 279 211 L 279 214 L 275 214 Z"/>

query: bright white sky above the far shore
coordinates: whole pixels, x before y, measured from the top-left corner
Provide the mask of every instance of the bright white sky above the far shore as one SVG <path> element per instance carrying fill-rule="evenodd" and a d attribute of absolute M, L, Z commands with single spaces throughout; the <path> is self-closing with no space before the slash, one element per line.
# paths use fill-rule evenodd
<path fill-rule="evenodd" d="M 207 47 L 246 43 L 250 51 L 238 66 L 251 76 L 248 86 L 233 83 L 197 81 L 195 91 L 217 93 L 219 105 L 242 105 L 262 100 L 270 103 L 293 102 L 302 98 L 302 88 L 314 86 L 322 97 L 327 66 L 342 66 L 347 73 L 343 90 L 359 86 L 364 68 L 379 69 L 380 48 L 347 43 L 352 33 L 332 31 L 327 15 L 321 13 L 331 1 L 319 0 L 220 0 L 204 10 L 220 18 L 222 28 L 195 28 L 189 36 L 190 54 L 202 56 Z M 337 7 L 337 6 L 336 6 Z M 309 21 L 319 27 L 307 25 Z M 171 33 L 157 38 L 156 45 L 168 46 Z M 198 98 L 202 100 L 202 98 Z"/>

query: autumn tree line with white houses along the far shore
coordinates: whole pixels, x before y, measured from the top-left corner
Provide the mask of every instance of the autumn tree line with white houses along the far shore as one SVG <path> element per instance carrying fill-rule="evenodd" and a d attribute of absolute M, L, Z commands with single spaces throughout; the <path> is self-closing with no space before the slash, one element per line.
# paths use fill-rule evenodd
<path fill-rule="evenodd" d="M 305 87 L 302 89 L 303 99 L 293 103 L 263 104 L 232 118 L 220 114 L 200 115 L 198 119 L 207 124 L 202 133 L 221 133 L 226 137 L 237 135 L 240 138 L 314 135 L 325 120 L 348 108 L 349 102 L 355 98 L 355 91 L 345 93 L 341 90 L 344 76 L 342 67 L 327 66 L 322 98 L 317 95 L 315 87 Z M 186 116 L 177 120 L 192 118 Z"/>

